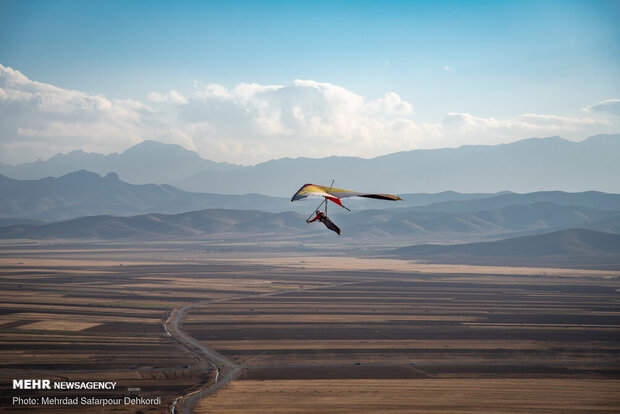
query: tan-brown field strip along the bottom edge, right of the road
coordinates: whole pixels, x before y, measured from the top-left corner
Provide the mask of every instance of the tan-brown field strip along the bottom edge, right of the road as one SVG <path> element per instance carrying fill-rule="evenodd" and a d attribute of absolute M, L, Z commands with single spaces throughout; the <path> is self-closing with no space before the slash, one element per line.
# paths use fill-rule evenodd
<path fill-rule="evenodd" d="M 248 380 L 198 412 L 613 413 L 617 390 L 617 382 L 580 379 Z"/>

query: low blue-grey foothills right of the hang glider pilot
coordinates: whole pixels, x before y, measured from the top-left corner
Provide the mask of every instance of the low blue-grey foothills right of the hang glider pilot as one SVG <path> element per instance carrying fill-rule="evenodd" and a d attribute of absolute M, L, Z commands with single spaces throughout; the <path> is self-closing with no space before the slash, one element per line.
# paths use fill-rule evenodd
<path fill-rule="evenodd" d="M 416 243 L 498 239 L 572 227 L 620 231 L 620 210 L 597 210 L 543 202 L 480 211 L 418 211 L 417 208 L 334 214 L 347 235 Z"/>

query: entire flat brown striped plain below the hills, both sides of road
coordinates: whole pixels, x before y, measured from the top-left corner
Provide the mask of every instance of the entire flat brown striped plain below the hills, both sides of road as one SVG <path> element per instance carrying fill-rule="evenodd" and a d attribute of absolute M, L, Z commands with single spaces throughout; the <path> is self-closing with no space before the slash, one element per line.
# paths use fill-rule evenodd
<path fill-rule="evenodd" d="M 617 412 L 620 272 L 434 265 L 217 243 L 3 243 L 14 378 L 112 380 L 99 412 Z M 217 368 L 179 329 L 238 372 Z M 139 391 L 128 389 L 139 388 Z M 58 391 L 49 395 L 59 396 Z M 77 394 L 75 394 L 77 393 Z M 81 393 L 81 394 L 80 394 Z M 92 395 L 74 392 L 71 395 Z M 99 395 L 98 394 L 98 395 Z"/>

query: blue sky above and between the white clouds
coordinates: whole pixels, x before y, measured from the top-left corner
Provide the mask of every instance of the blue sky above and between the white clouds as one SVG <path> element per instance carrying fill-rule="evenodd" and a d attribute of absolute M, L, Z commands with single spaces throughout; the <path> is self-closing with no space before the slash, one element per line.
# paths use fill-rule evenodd
<path fill-rule="evenodd" d="M 232 92 L 240 84 L 292 88 L 295 80 L 308 80 L 349 91 L 375 109 L 381 102 L 377 105 L 372 102 L 395 93 L 411 106 L 411 111 L 401 111 L 399 116 L 406 115 L 406 120 L 418 128 L 409 132 L 415 135 L 417 131 L 421 138 L 413 137 L 409 143 L 403 138 L 394 145 L 367 143 L 365 150 L 352 154 L 373 156 L 394 149 L 476 142 L 467 134 L 460 141 L 433 141 L 433 136 L 447 133 L 432 127 L 420 131 L 425 124 L 435 125 L 446 116 L 450 118 L 448 114 L 506 122 L 523 114 L 583 119 L 584 108 L 610 100 L 615 105 L 613 100 L 620 97 L 618 21 L 618 1 L 303 4 L 296 1 L 0 0 L 0 64 L 19 71 L 31 81 L 63 90 L 104 97 L 112 103 L 138 101 L 149 106 L 149 110 L 163 113 L 171 129 L 186 128 L 190 122 L 188 112 L 195 115 L 202 108 L 208 113 L 213 108 L 208 105 L 204 108 L 207 98 L 204 94 L 198 98 L 200 86 L 197 85 L 218 85 Z M 303 87 L 331 96 L 329 87 L 308 84 Z M 186 99 L 176 102 L 164 99 L 169 97 L 166 95 L 169 91 Z M 255 91 L 253 96 L 259 93 L 263 99 L 263 92 Z M 276 112 L 285 114 L 291 108 L 305 108 L 307 102 L 297 105 L 297 100 L 307 98 L 306 92 L 296 97 L 287 95 L 291 105 L 278 106 Z M 151 98 L 154 96 L 152 93 L 159 94 L 161 99 L 149 100 L 149 94 Z M 229 98 L 236 102 L 242 100 L 239 95 L 233 95 Z M 279 103 L 280 95 L 276 97 Z M 208 99 L 213 100 L 214 96 L 209 95 Z M 243 102 L 247 110 L 247 99 Z M 273 105 L 272 102 L 268 101 L 268 105 Z M 192 103 L 197 108 L 179 107 Z M 15 103 L 11 105 L 15 109 Z M 257 105 L 250 112 L 260 111 Z M 316 109 L 316 105 L 312 108 Z M 603 111 L 598 112 L 600 115 Z M 269 119 L 254 122 L 259 125 L 256 131 L 265 122 L 273 126 L 272 118 L 277 115 L 274 113 L 262 114 Z M 368 108 L 363 114 L 367 117 Z M 386 114 L 382 110 L 376 118 L 384 118 Z M 193 124 L 213 126 L 213 119 L 197 120 L 194 115 Z M 305 114 L 304 119 L 308 121 L 310 115 Z M 389 115 L 395 116 L 391 112 Z M 227 116 L 235 122 L 234 114 L 227 113 Z M 614 114 L 609 119 L 604 123 L 606 127 L 599 128 L 601 132 L 613 132 L 616 128 L 616 124 L 609 125 L 617 121 Z M 480 121 L 473 123 L 480 124 Z M 251 129 L 250 124 L 247 127 Z M 259 148 L 272 145 L 265 135 L 279 134 L 280 140 L 286 140 L 287 134 L 299 135 L 284 121 L 281 124 L 267 132 L 254 131 L 254 146 L 236 138 L 236 135 L 248 135 L 248 131 L 233 133 L 225 126 L 211 128 L 212 138 L 220 140 L 217 145 L 204 142 L 209 140 L 204 130 L 200 137 L 191 137 L 185 131 L 169 140 L 209 152 L 203 155 L 211 155 L 210 158 L 249 163 L 284 155 L 270 155 Z M 39 124 L 17 128 L 21 128 L 22 137 L 31 139 L 36 136 L 35 130 L 43 131 Z M 588 130 L 574 125 L 571 128 L 564 135 L 572 139 L 582 132 L 596 132 L 592 122 Z M 334 128 L 318 129 L 314 135 L 327 130 L 333 132 Z M 47 131 L 41 136 L 52 139 L 54 133 Z M 137 135 L 128 137 L 125 147 L 138 140 L 138 135 L 147 134 L 146 130 L 134 132 Z M 356 133 L 342 139 L 333 134 L 326 137 L 323 146 L 333 142 L 334 147 L 340 148 L 336 144 L 358 139 Z M 514 128 L 513 134 L 514 139 L 522 138 Z M 496 137 L 497 142 L 510 138 L 508 132 L 500 135 Z M 16 140 L 12 141 L 11 154 L 27 158 L 26 147 L 20 150 Z M 74 141 L 75 145 L 79 144 L 79 140 Z M 94 141 L 91 137 L 89 142 Z M 487 141 L 493 143 L 492 137 L 481 143 Z M 239 145 L 224 148 L 227 142 Z M 42 143 L 37 145 L 43 148 Z M 218 145 L 221 151 L 216 157 L 213 155 Z M 122 147 L 119 141 L 110 148 L 101 148 L 106 151 Z M 291 147 L 291 156 L 325 155 L 318 148 L 308 148 L 306 152 L 301 148 Z M 49 151 L 62 149 L 70 146 L 49 147 Z M 239 156 L 240 152 L 248 151 L 254 151 L 254 156 L 245 159 Z M 37 156 L 44 157 L 44 154 L 39 151 Z"/>

